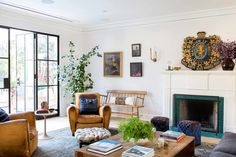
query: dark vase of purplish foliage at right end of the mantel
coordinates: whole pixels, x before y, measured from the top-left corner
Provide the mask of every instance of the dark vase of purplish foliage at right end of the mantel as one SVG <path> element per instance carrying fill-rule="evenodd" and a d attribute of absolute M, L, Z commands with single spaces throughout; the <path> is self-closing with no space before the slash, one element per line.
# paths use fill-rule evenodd
<path fill-rule="evenodd" d="M 235 65 L 233 59 L 236 58 L 236 42 L 221 41 L 216 44 L 216 51 L 220 53 L 221 66 L 223 70 L 233 70 Z"/>

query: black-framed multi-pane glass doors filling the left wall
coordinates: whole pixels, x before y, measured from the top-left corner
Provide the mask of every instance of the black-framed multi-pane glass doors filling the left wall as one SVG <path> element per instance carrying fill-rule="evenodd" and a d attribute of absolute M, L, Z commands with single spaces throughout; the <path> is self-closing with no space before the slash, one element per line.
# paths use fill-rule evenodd
<path fill-rule="evenodd" d="M 59 113 L 58 52 L 59 36 L 0 26 L 0 107 L 35 111 L 47 101 Z"/>

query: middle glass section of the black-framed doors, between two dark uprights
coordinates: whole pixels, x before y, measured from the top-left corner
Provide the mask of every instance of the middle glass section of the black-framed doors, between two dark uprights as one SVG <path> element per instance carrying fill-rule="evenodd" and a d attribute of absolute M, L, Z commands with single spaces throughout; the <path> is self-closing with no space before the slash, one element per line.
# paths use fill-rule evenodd
<path fill-rule="evenodd" d="M 34 111 L 34 34 L 11 29 L 11 112 Z"/>

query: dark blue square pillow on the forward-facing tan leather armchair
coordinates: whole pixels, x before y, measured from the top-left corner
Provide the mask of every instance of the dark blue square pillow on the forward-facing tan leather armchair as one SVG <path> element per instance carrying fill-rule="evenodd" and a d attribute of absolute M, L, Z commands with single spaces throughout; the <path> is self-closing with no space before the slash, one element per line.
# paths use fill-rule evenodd
<path fill-rule="evenodd" d="M 97 99 L 80 98 L 80 114 L 98 114 Z"/>

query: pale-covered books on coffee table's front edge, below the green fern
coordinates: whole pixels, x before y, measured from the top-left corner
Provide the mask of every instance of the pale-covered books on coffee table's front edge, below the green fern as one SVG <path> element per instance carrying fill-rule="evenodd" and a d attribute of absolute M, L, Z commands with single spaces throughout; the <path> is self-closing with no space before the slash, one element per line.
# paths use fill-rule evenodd
<path fill-rule="evenodd" d="M 122 157 L 153 157 L 154 149 L 142 146 L 133 146 L 122 153 Z"/>

